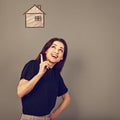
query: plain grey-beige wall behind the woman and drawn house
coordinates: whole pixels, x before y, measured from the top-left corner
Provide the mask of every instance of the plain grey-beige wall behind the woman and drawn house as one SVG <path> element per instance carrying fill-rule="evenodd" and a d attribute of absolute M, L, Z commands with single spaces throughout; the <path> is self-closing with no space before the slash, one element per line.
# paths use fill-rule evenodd
<path fill-rule="evenodd" d="M 25 28 L 34 4 L 45 28 Z M 0 120 L 19 120 L 21 70 L 52 37 L 69 46 L 62 75 L 71 104 L 58 120 L 120 120 L 120 0 L 0 0 Z"/>

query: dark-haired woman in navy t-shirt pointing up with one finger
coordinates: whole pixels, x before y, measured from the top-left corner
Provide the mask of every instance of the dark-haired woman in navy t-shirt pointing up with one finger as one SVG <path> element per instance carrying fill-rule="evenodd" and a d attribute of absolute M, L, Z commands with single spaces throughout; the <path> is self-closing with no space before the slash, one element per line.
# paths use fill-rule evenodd
<path fill-rule="evenodd" d="M 38 57 L 23 68 L 17 87 L 22 100 L 21 120 L 54 120 L 70 103 L 70 95 L 60 74 L 67 57 L 67 44 L 50 39 Z M 62 101 L 56 109 L 57 97 Z"/>

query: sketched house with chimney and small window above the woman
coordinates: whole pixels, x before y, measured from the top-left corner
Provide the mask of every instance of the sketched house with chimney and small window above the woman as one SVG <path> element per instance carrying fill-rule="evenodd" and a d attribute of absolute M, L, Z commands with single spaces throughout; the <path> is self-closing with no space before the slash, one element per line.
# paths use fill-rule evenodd
<path fill-rule="evenodd" d="M 25 13 L 25 27 L 27 28 L 43 28 L 45 13 L 41 10 L 40 5 L 33 5 Z"/>

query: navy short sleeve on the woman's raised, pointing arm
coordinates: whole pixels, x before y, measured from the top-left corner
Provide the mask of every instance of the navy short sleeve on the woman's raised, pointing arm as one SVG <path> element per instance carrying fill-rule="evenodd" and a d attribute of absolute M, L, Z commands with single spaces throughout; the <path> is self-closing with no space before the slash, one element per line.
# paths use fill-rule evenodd
<path fill-rule="evenodd" d="M 20 79 L 30 80 L 34 76 L 34 60 L 29 61 L 23 68 Z"/>

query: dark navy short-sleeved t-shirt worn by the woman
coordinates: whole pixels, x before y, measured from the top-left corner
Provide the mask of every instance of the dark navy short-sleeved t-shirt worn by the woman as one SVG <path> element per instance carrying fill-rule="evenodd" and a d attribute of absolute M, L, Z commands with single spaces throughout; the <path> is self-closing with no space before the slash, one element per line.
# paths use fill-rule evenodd
<path fill-rule="evenodd" d="M 31 60 L 23 68 L 21 78 L 31 80 L 39 71 L 39 61 Z M 68 91 L 59 72 L 54 67 L 46 71 L 33 90 L 22 98 L 24 114 L 43 116 L 54 108 L 57 96 Z"/>

